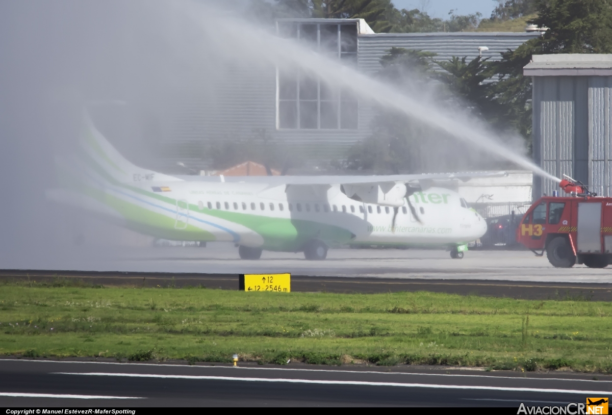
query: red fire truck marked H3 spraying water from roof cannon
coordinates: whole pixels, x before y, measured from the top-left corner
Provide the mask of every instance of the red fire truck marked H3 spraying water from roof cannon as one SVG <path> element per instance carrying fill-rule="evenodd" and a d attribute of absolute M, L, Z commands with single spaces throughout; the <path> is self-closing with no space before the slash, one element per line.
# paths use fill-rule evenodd
<path fill-rule="evenodd" d="M 569 196 L 543 196 L 532 204 L 517 228 L 517 241 L 535 255 L 546 252 L 556 267 L 608 266 L 612 262 L 612 197 L 597 197 L 572 179 L 562 180 L 559 187 Z"/>

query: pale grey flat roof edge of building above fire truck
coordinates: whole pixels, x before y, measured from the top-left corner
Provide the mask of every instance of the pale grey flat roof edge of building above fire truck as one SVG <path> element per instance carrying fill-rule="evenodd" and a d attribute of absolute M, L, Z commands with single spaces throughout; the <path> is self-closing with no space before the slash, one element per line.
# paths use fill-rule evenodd
<path fill-rule="evenodd" d="M 612 54 L 542 54 L 523 68 L 532 77 L 607 77 L 612 75 Z"/>

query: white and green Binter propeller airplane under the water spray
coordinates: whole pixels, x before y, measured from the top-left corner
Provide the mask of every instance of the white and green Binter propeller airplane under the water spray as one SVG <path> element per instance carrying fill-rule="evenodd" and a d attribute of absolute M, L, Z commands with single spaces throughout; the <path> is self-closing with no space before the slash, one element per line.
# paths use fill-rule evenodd
<path fill-rule="evenodd" d="M 499 175 L 170 176 L 125 159 L 86 111 L 78 152 L 56 157 L 56 167 L 61 189 L 47 191 L 51 200 L 159 239 L 233 242 L 244 260 L 263 250 L 324 260 L 340 245 L 446 247 L 463 258 L 487 223 L 436 181 Z"/>

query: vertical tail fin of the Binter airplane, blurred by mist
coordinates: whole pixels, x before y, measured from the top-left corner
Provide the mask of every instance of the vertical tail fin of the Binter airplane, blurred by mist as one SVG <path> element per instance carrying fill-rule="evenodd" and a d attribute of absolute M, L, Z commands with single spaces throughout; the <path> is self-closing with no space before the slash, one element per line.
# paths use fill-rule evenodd
<path fill-rule="evenodd" d="M 91 161 L 108 176 L 119 182 L 146 182 L 146 181 L 181 181 L 179 178 L 157 173 L 152 170 L 140 168 L 113 147 L 105 136 L 95 127 L 89 114 L 83 113 L 83 132 L 80 138 L 81 150 Z"/>

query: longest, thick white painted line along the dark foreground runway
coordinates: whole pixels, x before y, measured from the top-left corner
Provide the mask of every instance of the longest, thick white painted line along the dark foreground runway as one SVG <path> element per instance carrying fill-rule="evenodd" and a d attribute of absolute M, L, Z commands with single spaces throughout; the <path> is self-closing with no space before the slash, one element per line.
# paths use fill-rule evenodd
<path fill-rule="evenodd" d="M 427 387 L 431 389 L 477 389 L 479 391 L 506 391 L 506 392 L 544 392 L 556 394 L 610 394 L 610 391 L 578 391 L 575 389 L 541 389 L 537 387 L 502 387 L 502 386 L 464 386 L 440 385 L 427 383 L 399 383 L 399 382 L 367 382 L 367 381 L 338 381 L 338 380 L 311 380 L 311 379 L 283 379 L 283 378 L 234 378 L 232 376 L 191 376 L 191 375 L 148 375 L 141 373 L 70 373 L 57 372 L 57 375 L 84 375 L 84 376 L 121 376 L 126 378 L 160 378 L 160 379 L 192 379 L 192 380 L 226 380 L 241 382 L 269 382 L 269 383 L 306 383 L 326 385 L 353 385 L 353 386 L 400 386 L 400 387 Z"/>

